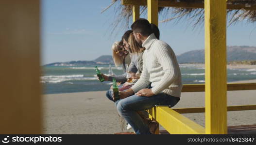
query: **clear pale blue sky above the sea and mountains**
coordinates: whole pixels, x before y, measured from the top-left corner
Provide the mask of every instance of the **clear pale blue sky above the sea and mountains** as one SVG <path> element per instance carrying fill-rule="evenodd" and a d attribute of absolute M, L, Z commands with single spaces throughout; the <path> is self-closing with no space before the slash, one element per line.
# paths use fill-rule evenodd
<path fill-rule="evenodd" d="M 111 55 L 111 46 L 125 30 L 110 34 L 114 6 L 101 14 L 111 0 L 41 0 L 42 64 L 93 60 Z M 141 17 L 146 18 L 147 15 Z M 161 15 L 159 20 L 163 20 Z M 204 26 L 204 25 L 203 25 Z M 176 55 L 204 49 L 204 28 L 192 29 L 186 21 L 160 23 L 160 39 Z M 256 25 L 241 21 L 227 28 L 227 45 L 256 46 Z"/>

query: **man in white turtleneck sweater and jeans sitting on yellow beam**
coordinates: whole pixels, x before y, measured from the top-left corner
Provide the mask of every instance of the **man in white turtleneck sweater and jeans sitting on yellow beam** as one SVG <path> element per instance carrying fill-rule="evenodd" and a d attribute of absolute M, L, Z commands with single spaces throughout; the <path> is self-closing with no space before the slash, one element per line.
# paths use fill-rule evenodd
<path fill-rule="evenodd" d="M 171 47 L 154 36 L 148 20 L 138 19 L 132 25 L 136 41 L 145 47 L 143 71 L 137 83 L 119 92 L 116 101 L 119 114 L 137 134 L 151 134 L 149 127 L 137 114 L 154 105 L 174 106 L 179 102 L 182 89 L 181 72 Z M 151 87 L 148 87 L 151 84 Z"/>

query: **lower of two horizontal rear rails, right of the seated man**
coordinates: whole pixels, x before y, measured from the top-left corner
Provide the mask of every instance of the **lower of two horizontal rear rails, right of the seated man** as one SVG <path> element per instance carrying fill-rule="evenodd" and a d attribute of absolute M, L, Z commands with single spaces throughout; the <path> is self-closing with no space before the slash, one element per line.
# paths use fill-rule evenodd
<path fill-rule="evenodd" d="M 185 113 L 204 113 L 205 108 L 178 108 L 172 109 L 178 113 L 185 114 Z M 256 105 L 241 105 L 241 106 L 228 106 L 227 111 L 244 111 L 244 110 L 256 110 Z"/>

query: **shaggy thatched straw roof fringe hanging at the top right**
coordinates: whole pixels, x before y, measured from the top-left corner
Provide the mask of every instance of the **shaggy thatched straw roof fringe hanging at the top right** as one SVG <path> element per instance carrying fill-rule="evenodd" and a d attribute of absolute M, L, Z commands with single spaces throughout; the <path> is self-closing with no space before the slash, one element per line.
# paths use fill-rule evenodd
<path fill-rule="evenodd" d="M 121 5 L 120 1 L 121 0 L 112 0 L 112 4 L 110 5 L 110 6 L 112 5 L 115 6 L 115 11 L 116 11 L 116 15 L 114 15 L 115 21 L 112 23 L 113 30 L 119 27 L 127 29 L 132 23 L 132 6 Z M 204 0 L 176 0 L 176 1 L 183 1 L 183 2 L 190 2 L 190 3 L 191 2 L 204 3 Z M 228 0 L 227 3 L 234 4 L 234 5 L 237 5 L 237 4 L 256 5 L 256 0 Z M 146 14 L 146 13 L 147 13 L 147 7 L 140 6 L 140 14 Z M 164 17 L 164 20 L 160 20 L 159 23 L 169 22 L 171 20 L 177 20 L 176 22 L 179 22 L 180 20 L 185 18 L 188 24 L 192 24 L 193 27 L 196 27 L 198 25 L 202 25 L 204 22 L 204 9 L 202 8 L 159 7 L 158 14 L 161 14 Z M 228 25 L 235 24 L 241 20 L 247 23 L 256 22 L 256 10 L 245 10 L 245 9 L 228 10 L 227 9 L 227 16 L 228 16 L 227 17 Z"/>

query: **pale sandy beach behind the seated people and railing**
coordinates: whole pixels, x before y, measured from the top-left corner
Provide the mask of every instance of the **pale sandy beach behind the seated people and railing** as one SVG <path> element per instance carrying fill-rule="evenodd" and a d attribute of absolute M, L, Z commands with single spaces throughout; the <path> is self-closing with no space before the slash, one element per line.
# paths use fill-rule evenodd
<path fill-rule="evenodd" d="M 232 82 L 234 83 L 234 82 Z M 256 80 L 236 83 L 256 83 Z M 121 132 L 114 102 L 105 97 L 106 91 L 43 95 L 43 132 L 46 134 L 113 134 Z M 228 91 L 228 106 L 255 105 L 256 90 Z M 204 107 L 205 93 L 182 93 L 173 108 Z M 184 114 L 205 126 L 205 114 Z M 256 124 L 256 111 L 228 112 L 228 126 Z M 164 130 L 160 127 L 160 130 Z M 132 130 L 130 130 L 132 131 Z"/>

